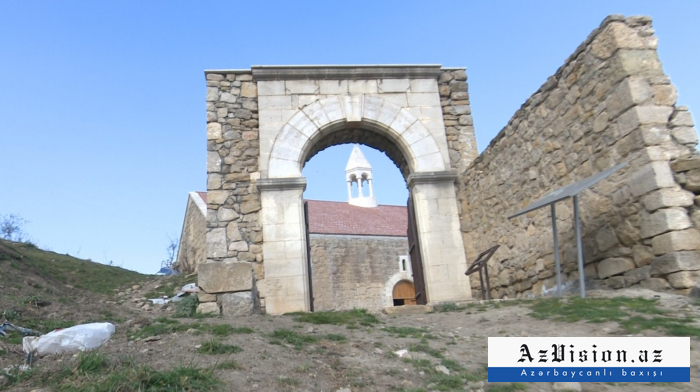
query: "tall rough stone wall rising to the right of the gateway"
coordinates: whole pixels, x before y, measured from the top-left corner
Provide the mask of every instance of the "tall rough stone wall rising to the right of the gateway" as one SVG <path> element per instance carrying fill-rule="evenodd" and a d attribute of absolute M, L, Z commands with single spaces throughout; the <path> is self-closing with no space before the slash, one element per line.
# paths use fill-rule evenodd
<path fill-rule="evenodd" d="M 656 48 L 649 18 L 608 17 L 462 173 L 467 254 L 473 260 L 501 245 L 489 263 L 495 297 L 547 294 L 555 286 L 549 208 L 507 216 L 625 161 L 580 196 L 588 284 L 680 289 L 694 273 L 683 272 L 683 283 L 674 283 L 673 274 L 700 269 L 700 232 L 689 219 L 696 207 L 678 183 L 683 170 L 674 166 L 674 179 L 670 165 L 695 153 L 697 135 L 687 108 L 676 106 Z M 685 174 L 686 187 L 694 175 Z M 558 203 L 556 212 L 563 281 L 573 289 L 571 201 Z M 479 288 L 478 277 L 472 288 Z"/>

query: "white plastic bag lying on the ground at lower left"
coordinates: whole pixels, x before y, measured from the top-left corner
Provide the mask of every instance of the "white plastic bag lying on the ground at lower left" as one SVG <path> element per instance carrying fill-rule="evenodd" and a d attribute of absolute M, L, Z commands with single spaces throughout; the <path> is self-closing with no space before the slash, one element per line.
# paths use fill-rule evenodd
<path fill-rule="evenodd" d="M 40 357 L 92 350 L 108 341 L 113 333 L 114 325 L 110 323 L 81 324 L 38 337 L 27 336 L 22 339 L 22 349 Z"/>

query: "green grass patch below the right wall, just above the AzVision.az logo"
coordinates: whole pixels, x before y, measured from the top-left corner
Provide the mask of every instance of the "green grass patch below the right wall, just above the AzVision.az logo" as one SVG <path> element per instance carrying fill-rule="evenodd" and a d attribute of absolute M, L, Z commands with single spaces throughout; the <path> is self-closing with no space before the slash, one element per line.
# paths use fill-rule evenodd
<path fill-rule="evenodd" d="M 700 337 L 700 328 L 690 325 L 690 317 L 669 317 L 657 307 L 656 300 L 643 298 L 571 298 L 567 300 L 542 299 L 531 306 L 530 315 L 544 320 L 574 323 L 587 321 L 604 323 L 615 321 L 628 333 L 658 330 L 672 336 Z"/>

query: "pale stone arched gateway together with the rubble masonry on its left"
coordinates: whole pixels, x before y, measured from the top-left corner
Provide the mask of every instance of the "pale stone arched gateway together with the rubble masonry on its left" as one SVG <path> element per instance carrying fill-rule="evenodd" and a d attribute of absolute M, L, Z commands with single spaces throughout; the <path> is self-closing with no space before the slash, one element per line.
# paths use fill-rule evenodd
<path fill-rule="evenodd" d="M 302 168 L 326 147 L 362 143 L 384 151 L 406 179 L 424 300 L 470 298 L 451 164 L 461 152 L 448 147 L 444 72 L 432 65 L 207 71 L 208 261 L 252 263 L 251 295 L 268 313 L 309 311 Z"/>

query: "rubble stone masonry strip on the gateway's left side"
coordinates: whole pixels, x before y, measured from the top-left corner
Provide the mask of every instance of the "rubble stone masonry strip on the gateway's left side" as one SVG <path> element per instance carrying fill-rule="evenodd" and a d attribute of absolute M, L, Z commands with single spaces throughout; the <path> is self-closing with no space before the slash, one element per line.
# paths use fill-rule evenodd
<path fill-rule="evenodd" d="M 250 71 L 207 72 L 206 81 L 207 263 L 247 263 L 255 278 L 263 279 L 260 193 L 255 187 L 260 178 L 257 83 Z M 200 273 L 204 287 L 202 279 Z M 239 307 L 247 309 L 254 300 L 249 285 L 243 287 L 247 294 L 227 295 L 233 298 L 228 301 L 232 309 L 240 301 L 245 304 Z"/>

